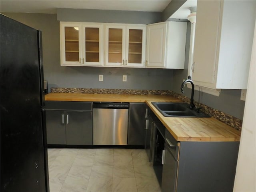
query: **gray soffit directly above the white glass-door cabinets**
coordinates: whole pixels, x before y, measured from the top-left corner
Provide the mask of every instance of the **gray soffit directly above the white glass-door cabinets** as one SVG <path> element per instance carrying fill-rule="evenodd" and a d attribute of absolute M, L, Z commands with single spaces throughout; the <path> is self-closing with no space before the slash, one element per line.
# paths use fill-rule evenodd
<path fill-rule="evenodd" d="M 151 24 L 162 22 L 161 12 L 119 11 L 98 9 L 57 9 L 57 20 L 70 22 L 102 22 Z"/>

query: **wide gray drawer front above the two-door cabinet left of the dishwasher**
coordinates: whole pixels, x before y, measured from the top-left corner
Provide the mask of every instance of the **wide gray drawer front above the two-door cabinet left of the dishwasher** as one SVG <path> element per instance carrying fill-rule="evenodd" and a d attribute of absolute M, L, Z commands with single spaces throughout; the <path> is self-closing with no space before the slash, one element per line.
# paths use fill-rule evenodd
<path fill-rule="evenodd" d="M 46 109 L 92 111 L 92 102 L 46 101 Z"/>

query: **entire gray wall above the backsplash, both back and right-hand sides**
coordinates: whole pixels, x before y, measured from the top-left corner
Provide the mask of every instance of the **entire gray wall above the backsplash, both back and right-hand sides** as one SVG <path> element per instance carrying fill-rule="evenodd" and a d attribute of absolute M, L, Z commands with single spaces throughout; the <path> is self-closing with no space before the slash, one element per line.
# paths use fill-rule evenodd
<path fill-rule="evenodd" d="M 185 70 L 68 67 L 60 66 L 60 31 L 56 14 L 5 14 L 42 30 L 44 77 L 48 80 L 49 88 L 152 89 L 181 93 L 180 84 L 187 78 L 190 23 L 187 28 Z M 104 75 L 104 82 L 98 81 L 99 74 Z M 122 82 L 123 74 L 127 74 L 127 82 Z M 185 96 L 190 97 L 190 93 L 191 89 L 184 88 Z M 243 118 L 244 101 L 240 100 L 240 90 L 222 90 L 219 97 L 195 91 L 194 99 L 239 119 Z"/>

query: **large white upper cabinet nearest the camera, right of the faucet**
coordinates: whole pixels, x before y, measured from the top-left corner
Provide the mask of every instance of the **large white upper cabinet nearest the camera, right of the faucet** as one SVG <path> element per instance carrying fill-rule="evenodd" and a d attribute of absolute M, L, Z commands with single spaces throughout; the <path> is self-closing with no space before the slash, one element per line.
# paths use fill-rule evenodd
<path fill-rule="evenodd" d="M 212 89 L 247 88 L 255 4 L 229 0 L 197 2 L 194 84 Z"/>

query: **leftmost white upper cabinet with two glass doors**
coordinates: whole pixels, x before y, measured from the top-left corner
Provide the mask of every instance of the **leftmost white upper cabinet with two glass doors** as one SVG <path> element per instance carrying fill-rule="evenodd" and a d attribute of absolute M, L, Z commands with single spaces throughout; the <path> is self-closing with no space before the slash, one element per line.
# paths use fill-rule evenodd
<path fill-rule="evenodd" d="M 60 22 L 63 66 L 103 66 L 103 24 Z"/>

